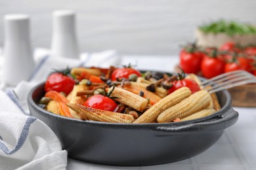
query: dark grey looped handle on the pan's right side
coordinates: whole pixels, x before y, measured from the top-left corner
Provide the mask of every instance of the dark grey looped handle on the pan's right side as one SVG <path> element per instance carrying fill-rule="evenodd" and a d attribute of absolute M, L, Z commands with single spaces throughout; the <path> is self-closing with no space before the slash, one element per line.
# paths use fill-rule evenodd
<path fill-rule="evenodd" d="M 171 133 L 188 133 L 188 132 L 209 132 L 226 129 L 232 126 L 238 120 L 238 112 L 231 107 L 224 112 L 219 112 L 212 118 L 209 118 L 203 122 L 194 122 L 192 124 L 163 124 L 156 126 L 154 130 L 165 131 Z"/>

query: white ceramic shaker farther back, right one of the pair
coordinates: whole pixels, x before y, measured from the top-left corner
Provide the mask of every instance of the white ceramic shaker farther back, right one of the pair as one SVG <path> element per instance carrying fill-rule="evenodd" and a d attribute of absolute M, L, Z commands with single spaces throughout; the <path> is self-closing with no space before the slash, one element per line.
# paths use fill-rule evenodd
<path fill-rule="evenodd" d="M 55 10 L 53 12 L 51 54 L 54 57 L 79 58 L 73 10 Z"/>

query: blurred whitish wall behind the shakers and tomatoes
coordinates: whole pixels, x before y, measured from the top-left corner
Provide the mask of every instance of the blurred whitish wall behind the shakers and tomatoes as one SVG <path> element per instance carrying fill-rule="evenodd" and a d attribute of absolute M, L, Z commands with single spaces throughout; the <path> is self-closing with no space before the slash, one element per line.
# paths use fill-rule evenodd
<path fill-rule="evenodd" d="M 255 0 L 0 0 L 0 16 L 30 15 L 34 47 L 50 48 L 53 10 L 72 9 L 81 52 L 177 55 L 179 46 L 194 41 L 196 27 L 205 22 L 225 18 L 256 24 L 255 7 Z"/>

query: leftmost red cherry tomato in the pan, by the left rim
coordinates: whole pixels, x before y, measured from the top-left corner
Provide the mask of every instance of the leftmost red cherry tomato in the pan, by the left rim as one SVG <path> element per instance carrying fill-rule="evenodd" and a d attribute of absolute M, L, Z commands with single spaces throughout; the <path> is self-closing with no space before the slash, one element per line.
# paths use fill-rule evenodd
<path fill-rule="evenodd" d="M 45 92 L 54 90 L 56 92 L 70 93 L 75 85 L 75 80 L 62 73 L 53 73 L 48 76 L 45 82 Z"/>

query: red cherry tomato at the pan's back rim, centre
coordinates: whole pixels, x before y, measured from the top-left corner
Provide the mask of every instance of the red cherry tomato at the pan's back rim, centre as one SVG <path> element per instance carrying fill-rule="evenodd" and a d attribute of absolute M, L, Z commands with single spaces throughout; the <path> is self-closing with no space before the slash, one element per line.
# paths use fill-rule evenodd
<path fill-rule="evenodd" d="M 132 74 L 141 76 L 140 72 L 133 68 L 124 67 L 120 69 L 115 69 L 112 73 L 111 80 L 116 80 L 117 78 L 129 78 L 129 75 Z"/>

